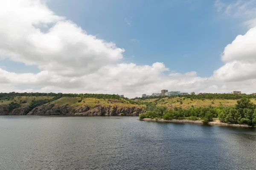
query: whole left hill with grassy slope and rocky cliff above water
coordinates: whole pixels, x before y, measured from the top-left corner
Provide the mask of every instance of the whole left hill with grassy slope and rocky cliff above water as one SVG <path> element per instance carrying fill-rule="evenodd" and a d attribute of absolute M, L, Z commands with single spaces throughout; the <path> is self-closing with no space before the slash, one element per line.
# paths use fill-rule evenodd
<path fill-rule="evenodd" d="M 6 97 L 7 96 L 7 97 Z M 6 95 L 0 98 L 0 115 L 124 115 L 138 116 L 143 105 L 117 95 L 96 97 Z M 93 96 L 93 95 L 90 95 Z"/>

